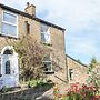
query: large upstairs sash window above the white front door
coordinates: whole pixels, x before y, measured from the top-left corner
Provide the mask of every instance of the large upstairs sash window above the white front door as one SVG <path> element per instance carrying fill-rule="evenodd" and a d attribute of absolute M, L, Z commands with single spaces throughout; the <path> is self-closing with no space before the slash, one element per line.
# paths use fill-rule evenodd
<path fill-rule="evenodd" d="M 3 11 L 1 34 L 17 38 L 17 14 Z"/>

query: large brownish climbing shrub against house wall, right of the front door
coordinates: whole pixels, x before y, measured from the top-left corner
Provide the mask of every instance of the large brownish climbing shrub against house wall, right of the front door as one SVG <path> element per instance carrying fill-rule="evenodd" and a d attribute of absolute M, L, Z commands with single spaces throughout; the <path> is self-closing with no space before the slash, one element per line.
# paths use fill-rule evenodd
<path fill-rule="evenodd" d="M 42 73 L 42 59 L 47 54 L 47 49 L 29 34 L 14 41 L 13 48 L 19 54 L 21 77 L 27 80 L 40 78 Z"/>

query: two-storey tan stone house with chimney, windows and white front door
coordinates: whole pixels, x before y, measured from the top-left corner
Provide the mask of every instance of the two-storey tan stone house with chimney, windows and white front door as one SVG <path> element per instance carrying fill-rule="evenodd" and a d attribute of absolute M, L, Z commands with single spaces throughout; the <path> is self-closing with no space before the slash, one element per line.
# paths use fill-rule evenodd
<path fill-rule="evenodd" d="M 53 82 L 67 82 L 64 50 L 64 29 L 36 17 L 36 6 L 27 3 L 23 11 L 0 3 L 0 88 L 19 86 L 18 54 L 8 41 L 20 39 L 30 33 L 41 44 L 49 47 L 58 59 L 57 66 L 52 52 L 43 61 L 47 77 Z"/>

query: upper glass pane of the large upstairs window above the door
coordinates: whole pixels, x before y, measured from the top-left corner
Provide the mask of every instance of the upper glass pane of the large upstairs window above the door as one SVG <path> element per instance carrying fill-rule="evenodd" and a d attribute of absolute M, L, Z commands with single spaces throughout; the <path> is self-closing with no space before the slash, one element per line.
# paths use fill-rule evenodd
<path fill-rule="evenodd" d="M 10 13 L 4 12 L 3 13 L 3 21 L 10 22 L 16 24 L 17 23 L 17 17 Z"/>

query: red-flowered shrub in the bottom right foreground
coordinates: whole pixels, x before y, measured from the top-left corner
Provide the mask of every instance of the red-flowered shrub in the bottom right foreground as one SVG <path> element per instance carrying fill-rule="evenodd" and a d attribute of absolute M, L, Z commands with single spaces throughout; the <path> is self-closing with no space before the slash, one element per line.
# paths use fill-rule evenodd
<path fill-rule="evenodd" d="M 96 88 L 88 87 L 87 84 L 82 84 L 79 88 L 78 84 L 71 84 L 70 91 L 67 91 L 67 96 L 71 98 L 71 100 L 92 100 L 96 96 Z"/>

